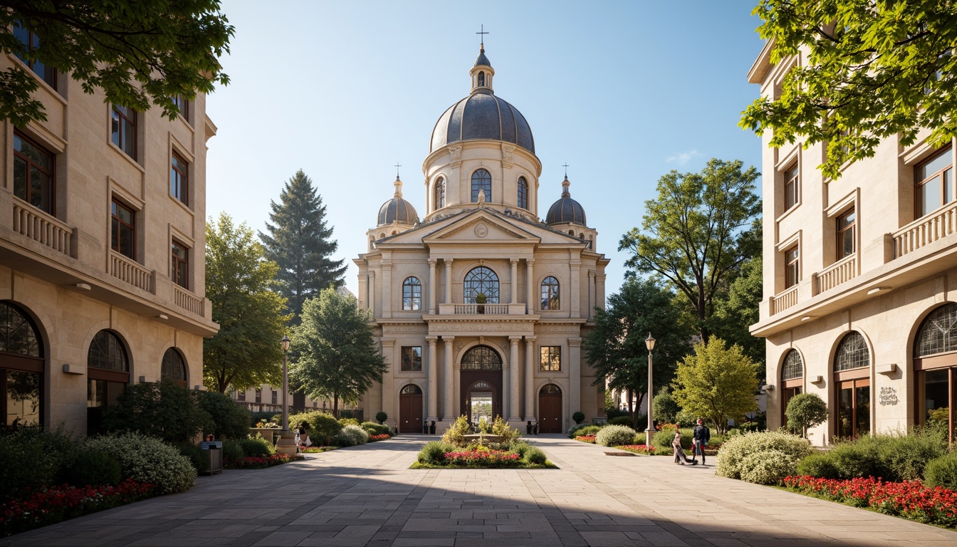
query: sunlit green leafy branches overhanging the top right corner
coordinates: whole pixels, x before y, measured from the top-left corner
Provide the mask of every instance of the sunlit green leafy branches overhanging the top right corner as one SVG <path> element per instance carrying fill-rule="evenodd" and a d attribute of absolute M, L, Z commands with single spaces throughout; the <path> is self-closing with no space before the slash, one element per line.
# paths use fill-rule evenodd
<path fill-rule="evenodd" d="M 957 137 L 957 3 L 761 0 L 753 13 L 772 64 L 802 57 L 777 98 L 742 114 L 742 127 L 772 131 L 771 147 L 827 143 L 821 169 L 836 179 L 882 139 L 900 135 L 906 147 L 922 127 L 934 147 Z"/>

